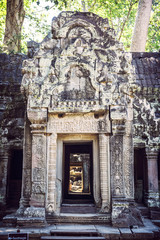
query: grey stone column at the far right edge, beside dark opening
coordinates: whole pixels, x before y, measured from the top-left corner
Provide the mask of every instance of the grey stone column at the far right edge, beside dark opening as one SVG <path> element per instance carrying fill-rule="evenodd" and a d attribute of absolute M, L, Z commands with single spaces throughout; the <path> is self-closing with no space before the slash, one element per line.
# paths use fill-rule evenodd
<path fill-rule="evenodd" d="M 146 148 L 146 156 L 148 181 L 145 203 L 148 207 L 159 207 L 158 151 L 156 149 Z"/>

